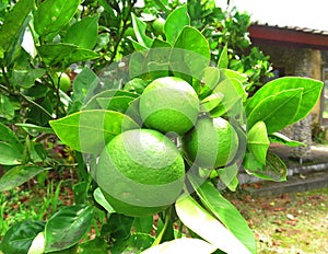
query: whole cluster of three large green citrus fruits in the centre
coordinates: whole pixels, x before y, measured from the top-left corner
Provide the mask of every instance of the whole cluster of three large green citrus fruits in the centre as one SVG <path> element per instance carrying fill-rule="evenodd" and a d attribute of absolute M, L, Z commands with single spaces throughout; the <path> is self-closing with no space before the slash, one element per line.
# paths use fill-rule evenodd
<path fill-rule="evenodd" d="M 139 114 L 144 128 L 112 139 L 97 164 L 97 183 L 117 212 L 159 212 L 180 195 L 186 164 L 215 169 L 236 155 L 233 126 L 202 114 L 196 91 L 180 78 L 153 80 L 140 95 Z"/>

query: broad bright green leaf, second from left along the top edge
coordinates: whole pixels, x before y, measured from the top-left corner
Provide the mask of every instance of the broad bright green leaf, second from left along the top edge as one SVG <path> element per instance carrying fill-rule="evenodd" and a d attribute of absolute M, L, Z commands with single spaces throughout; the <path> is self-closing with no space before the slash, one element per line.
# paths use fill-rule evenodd
<path fill-rule="evenodd" d="M 78 11 L 80 0 L 46 0 L 34 13 L 34 28 L 39 36 L 59 32 Z M 58 51 L 59 53 L 59 51 Z"/>

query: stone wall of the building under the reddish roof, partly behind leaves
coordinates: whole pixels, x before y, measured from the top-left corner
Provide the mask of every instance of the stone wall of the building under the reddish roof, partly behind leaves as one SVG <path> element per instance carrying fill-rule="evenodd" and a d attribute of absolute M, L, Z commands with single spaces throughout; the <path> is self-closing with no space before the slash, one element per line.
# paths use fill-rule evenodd
<path fill-rule="evenodd" d="M 284 76 L 308 77 L 321 80 L 323 61 L 320 50 L 281 45 L 259 45 L 259 47 L 266 55 L 270 56 L 273 68 L 283 70 Z M 283 134 L 289 138 L 306 145 L 306 147 L 293 148 L 292 157 L 300 160 L 312 158 L 309 150 L 312 128 L 315 122 L 319 123 L 319 114 L 320 103 L 318 102 L 311 115 L 283 130 Z"/>

